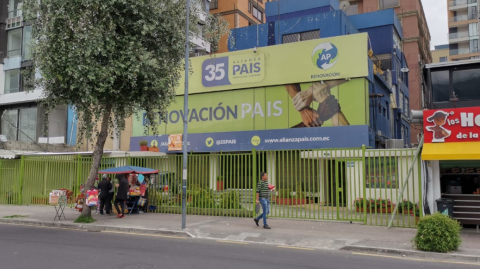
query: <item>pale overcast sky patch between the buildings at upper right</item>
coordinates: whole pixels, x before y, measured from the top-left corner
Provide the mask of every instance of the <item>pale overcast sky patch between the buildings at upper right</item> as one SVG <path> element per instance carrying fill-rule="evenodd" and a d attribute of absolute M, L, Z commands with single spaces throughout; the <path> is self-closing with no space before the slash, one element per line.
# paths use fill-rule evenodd
<path fill-rule="evenodd" d="M 430 41 L 431 49 L 434 46 L 448 44 L 447 1 L 422 0 L 422 3 L 432 37 Z"/>

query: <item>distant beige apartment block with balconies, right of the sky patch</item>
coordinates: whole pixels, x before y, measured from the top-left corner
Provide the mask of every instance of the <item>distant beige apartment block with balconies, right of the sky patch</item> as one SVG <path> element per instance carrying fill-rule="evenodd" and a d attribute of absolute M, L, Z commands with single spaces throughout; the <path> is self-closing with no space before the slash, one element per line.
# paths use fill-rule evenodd
<path fill-rule="evenodd" d="M 450 60 L 480 57 L 478 0 L 447 0 Z"/>

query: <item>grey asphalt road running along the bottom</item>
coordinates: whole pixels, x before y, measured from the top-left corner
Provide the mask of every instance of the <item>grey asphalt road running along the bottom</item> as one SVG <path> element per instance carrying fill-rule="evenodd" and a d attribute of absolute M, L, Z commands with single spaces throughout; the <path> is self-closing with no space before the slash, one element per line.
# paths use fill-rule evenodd
<path fill-rule="evenodd" d="M 0 224 L 0 267 L 199 269 L 478 268 L 341 251 L 279 248 L 214 240 L 82 232 Z"/>

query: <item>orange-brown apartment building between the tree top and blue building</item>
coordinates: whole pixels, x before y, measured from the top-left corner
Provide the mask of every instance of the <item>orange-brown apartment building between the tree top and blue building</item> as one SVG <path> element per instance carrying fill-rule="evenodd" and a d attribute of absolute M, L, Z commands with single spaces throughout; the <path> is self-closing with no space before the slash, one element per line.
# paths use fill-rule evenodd
<path fill-rule="evenodd" d="M 265 2 L 271 0 L 211 0 L 210 13 L 222 15 L 230 29 L 266 22 Z M 228 35 L 220 39 L 217 52 L 228 52 Z"/>

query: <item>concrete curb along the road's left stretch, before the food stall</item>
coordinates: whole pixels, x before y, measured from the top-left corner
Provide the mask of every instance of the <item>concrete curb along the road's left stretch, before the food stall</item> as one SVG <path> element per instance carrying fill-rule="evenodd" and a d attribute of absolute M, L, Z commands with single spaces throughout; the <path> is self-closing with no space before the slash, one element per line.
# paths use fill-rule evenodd
<path fill-rule="evenodd" d="M 81 223 L 63 223 L 63 222 L 50 222 L 50 221 L 36 221 L 36 220 L 23 220 L 23 219 L 3 219 L 0 218 L 0 223 L 3 224 L 16 224 L 25 226 L 47 227 L 47 228 L 60 228 L 70 230 L 80 230 L 86 232 L 118 232 L 118 233 L 133 233 L 144 235 L 164 235 L 175 236 L 185 238 L 195 238 L 189 232 L 166 230 L 166 229 L 148 229 L 148 228 L 129 228 L 129 227 L 114 227 L 106 225 L 95 224 L 81 224 Z"/>

